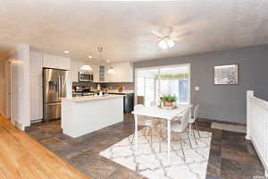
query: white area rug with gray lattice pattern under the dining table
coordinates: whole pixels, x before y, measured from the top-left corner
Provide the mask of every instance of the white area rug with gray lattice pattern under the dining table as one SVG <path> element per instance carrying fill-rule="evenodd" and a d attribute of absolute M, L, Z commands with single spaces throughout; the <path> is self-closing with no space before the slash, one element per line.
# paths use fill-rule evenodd
<path fill-rule="evenodd" d="M 100 155 L 113 160 L 144 175 L 149 179 L 205 179 L 206 167 L 209 158 L 211 132 L 200 132 L 201 138 L 197 138 L 197 144 L 191 137 L 193 149 L 190 148 L 186 134 L 181 134 L 186 162 L 180 149 L 180 141 L 172 135 L 171 165 L 167 161 L 167 145 L 162 142 L 162 150 L 159 150 L 159 139 L 144 137 L 138 133 L 138 151 L 135 152 L 134 143 L 131 144 L 132 135 L 114 144 L 112 147 L 100 152 Z"/>

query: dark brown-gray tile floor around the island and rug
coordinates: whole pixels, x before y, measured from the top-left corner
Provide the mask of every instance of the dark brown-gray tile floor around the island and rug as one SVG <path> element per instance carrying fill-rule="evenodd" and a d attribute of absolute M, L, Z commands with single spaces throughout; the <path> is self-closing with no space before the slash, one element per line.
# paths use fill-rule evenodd
<path fill-rule="evenodd" d="M 33 124 L 27 133 L 91 179 L 141 179 L 145 177 L 98 155 L 129 136 L 134 131 L 132 121 L 132 115 L 125 115 L 123 123 L 77 139 L 63 134 L 59 120 Z M 264 168 L 245 134 L 212 129 L 210 125 L 207 120 L 198 121 L 200 130 L 213 133 L 206 179 L 264 178 Z"/>

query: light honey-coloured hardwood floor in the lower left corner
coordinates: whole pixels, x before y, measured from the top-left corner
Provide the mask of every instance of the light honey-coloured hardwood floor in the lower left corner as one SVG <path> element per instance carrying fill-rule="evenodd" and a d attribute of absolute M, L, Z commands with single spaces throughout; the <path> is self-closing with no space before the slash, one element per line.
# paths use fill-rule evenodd
<path fill-rule="evenodd" d="M 86 179 L 0 115 L 0 179 Z"/>

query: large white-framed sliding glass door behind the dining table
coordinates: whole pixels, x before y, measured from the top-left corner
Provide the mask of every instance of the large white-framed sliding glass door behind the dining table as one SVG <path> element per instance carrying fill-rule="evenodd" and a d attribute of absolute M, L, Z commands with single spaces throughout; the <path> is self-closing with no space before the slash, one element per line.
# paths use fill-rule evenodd
<path fill-rule="evenodd" d="M 189 103 L 189 64 L 137 69 L 135 87 L 147 107 L 163 95 L 176 96 L 178 104 Z"/>

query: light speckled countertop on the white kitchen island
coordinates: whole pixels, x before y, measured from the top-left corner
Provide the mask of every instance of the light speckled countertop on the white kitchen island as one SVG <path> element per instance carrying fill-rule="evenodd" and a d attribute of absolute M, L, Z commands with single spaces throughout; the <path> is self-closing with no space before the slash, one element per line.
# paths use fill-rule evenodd
<path fill-rule="evenodd" d="M 74 102 L 80 101 L 90 101 L 90 100 L 100 100 L 100 99 L 107 99 L 107 98 L 122 98 L 123 95 L 104 95 L 104 96 L 85 96 L 85 97 L 72 97 L 72 98 L 62 98 L 62 100 L 71 100 Z"/>

